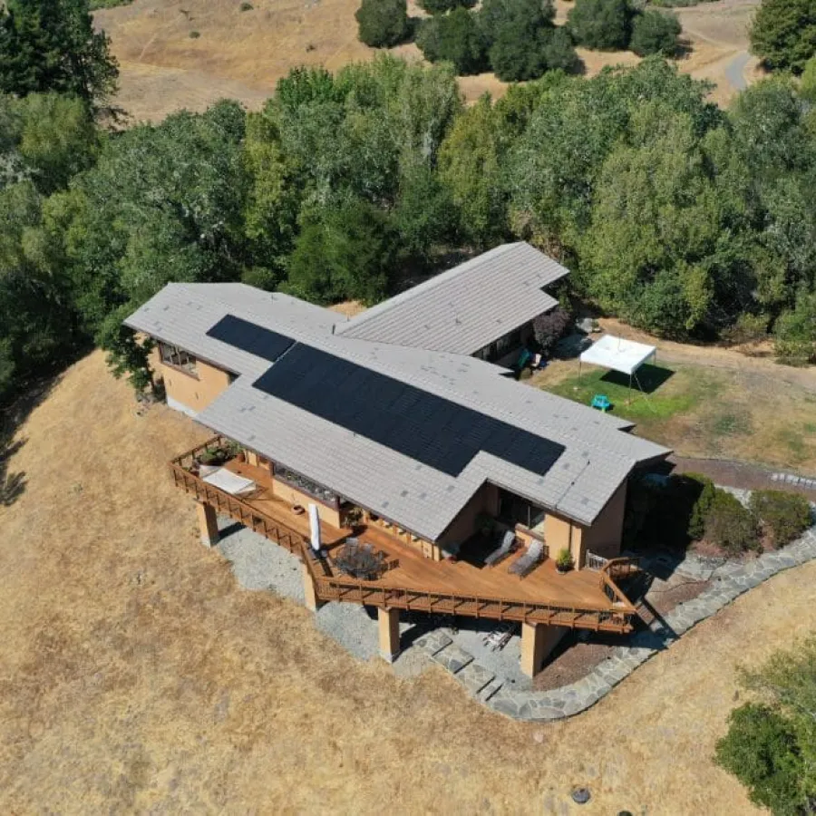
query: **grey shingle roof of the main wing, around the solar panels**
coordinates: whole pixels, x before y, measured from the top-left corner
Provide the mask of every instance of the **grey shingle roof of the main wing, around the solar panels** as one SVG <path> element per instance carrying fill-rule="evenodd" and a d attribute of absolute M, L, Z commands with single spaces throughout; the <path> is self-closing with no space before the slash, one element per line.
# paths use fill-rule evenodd
<path fill-rule="evenodd" d="M 281 398 L 275 389 L 265 393 L 255 383 L 269 371 L 269 360 L 208 335 L 227 316 L 291 338 L 292 350 L 282 355 L 282 361 L 295 351 L 313 349 L 329 358 L 328 365 L 348 374 L 337 379 L 334 389 L 324 387 L 319 372 L 314 372 L 298 386 L 305 390 L 297 396 L 285 393 Z M 334 313 L 295 298 L 239 284 L 172 284 L 126 323 L 240 375 L 199 413 L 199 422 L 426 539 L 438 539 L 484 481 L 591 524 L 636 463 L 668 453 L 622 432 L 631 423 L 517 383 L 497 366 L 468 356 L 341 335 L 333 329 L 337 319 Z M 387 378 L 387 387 L 382 380 L 373 385 L 366 373 Z M 354 377 L 367 390 L 352 413 L 367 413 L 370 431 L 366 422 L 332 421 L 337 414 L 328 403 L 342 400 L 348 393 L 344 388 L 354 385 L 346 379 Z M 406 452 L 406 445 L 398 436 L 389 439 L 387 430 L 406 432 L 404 413 L 394 414 L 394 406 L 400 400 L 415 400 L 417 392 L 432 395 L 430 402 L 423 402 L 435 406 L 423 419 L 424 430 L 422 423 L 416 425 L 420 430 L 415 432 L 425 433 L 428 444 L 442 439 L 455 446 L 470 425 L 484 424 L 479 417 L 468 420 L 474 412 L 498 423 L 491 427 L 501 426 L 497 432 L 505 442 L 477 446 L 460 470 Z M 321 399 L 326 405 L 308 402 Z M 306 404 L 318 407 L 306 410 Z M 457 406 L 471 414 L 462 414 Z M 547 467 L 528 469 L 514 463 L 523 461 L 529 448 L 524 434 L 539 437 L 557 452 Z"/>

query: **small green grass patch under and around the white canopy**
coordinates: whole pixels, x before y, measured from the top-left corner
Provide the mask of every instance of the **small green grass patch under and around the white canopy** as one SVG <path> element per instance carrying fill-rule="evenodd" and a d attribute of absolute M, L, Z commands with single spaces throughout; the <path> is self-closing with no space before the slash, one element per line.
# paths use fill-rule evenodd
<path fill-rule="evenodd" d="M 612 413 L 638 423 L 650 423 L 691 411 L 706 395 L 717 390 L 714 381 L 697 374 L 644 365 L 638 370 L 637 383 L 633 380 L 629 393 L 627 374 L 593 368 L 580 377 L 570 377 L 551 386 L 549 391 L 584 405 L 591 403 L 595 394 L 603 393 L 612 403 Z"/>

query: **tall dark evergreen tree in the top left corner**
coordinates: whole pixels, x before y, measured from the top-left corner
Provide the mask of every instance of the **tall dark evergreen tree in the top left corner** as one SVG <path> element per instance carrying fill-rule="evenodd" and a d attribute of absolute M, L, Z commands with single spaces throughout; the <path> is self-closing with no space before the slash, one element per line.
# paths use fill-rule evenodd
<path fill-rule="evenodd" d="M 97 109 L 119 75 L 88 0 L 8 0 L 0 8 L 0 91 L 69 93 Z"/>

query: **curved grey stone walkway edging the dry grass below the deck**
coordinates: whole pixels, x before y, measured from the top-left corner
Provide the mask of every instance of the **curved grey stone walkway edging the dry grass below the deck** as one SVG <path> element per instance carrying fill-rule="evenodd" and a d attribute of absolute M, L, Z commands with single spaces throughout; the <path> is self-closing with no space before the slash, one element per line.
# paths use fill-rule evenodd
<path fill-rule="evenodd" d="M 784 569 L 816 559 L 816 525 L 783 549 L 764 553 L 745 564 L 714 568 L 713 584 L 693 600 L 679 604 L 663 617 L 656 630 L 638 632 L 629 646 L 618 646 L 600 665 L 578 682 L 547 692 L 521 691 L 476 663 L 452 639 L 434 631 L 417 640 L 432 659 L 461 682 L 467 692 L 500 714 L 518 720 L 560 720 L 586 711 L 650 657 L 670 647 L 701 620 L 712 617 L 749 589 Z"/>

